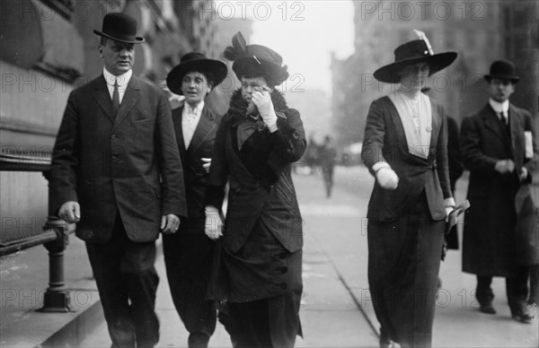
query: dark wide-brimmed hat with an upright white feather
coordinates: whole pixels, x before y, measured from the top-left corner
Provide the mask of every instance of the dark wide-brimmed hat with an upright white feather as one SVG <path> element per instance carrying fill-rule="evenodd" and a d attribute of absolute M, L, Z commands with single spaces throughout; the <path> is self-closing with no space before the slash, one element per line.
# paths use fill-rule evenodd
<path fill-rule="evenodd" d="M 425 62 L 429 64 L 429 76 L 451 65 L 456 59 L 456 52 L 437 53 L 430 47 L 425 33 L 415 30 L 420 39 L 406 42 L 394 50 L 395 61 L 384 65 L 375 72 L 375 78 L 383 83 L 400 83 L 402 70 L 409 65 Z"/>

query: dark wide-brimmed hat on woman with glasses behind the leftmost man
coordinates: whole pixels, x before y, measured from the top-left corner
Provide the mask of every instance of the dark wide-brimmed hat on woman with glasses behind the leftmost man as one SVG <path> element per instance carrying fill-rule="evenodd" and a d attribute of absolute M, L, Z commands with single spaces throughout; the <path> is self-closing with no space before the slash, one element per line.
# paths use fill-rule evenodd
<path fill-rule="evenodd" d="M 169 90 L 176 94 L 183 94 L 181 91 L 183 76 L 191 72 L 204 74 L 213 83 L 212 88 L 215 88 L 216 85 L 225 80 L 227 70 L 225 63 L 221 61 L 208 59 L 203 53 L 190 52 L 183 55 L 180 64 L 174 66 L 166 76 L 166 85 Z"/>

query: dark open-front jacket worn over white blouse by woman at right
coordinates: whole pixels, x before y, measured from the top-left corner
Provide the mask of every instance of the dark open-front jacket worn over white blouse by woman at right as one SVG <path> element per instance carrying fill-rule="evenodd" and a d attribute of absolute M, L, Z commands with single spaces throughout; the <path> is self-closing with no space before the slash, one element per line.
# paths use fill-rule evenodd
<path fill-rule="evenodd" d="M 401 118 L 393 102 L 384 97 L 373 101 L 367 115 L 361 158 L 372 171 L 378 161 L 389 163 L 399 177 L 395 190 L 387 190 L 375 182 L 367 217 L 390 222 L 405 215 L 425 191 L 433 220 L 446 218 L 444 199 L 452 197 L 447 169 L 447 129 L 444 109 L 430 99 L 432 135 L 428 159 L 408 152 Z"/>

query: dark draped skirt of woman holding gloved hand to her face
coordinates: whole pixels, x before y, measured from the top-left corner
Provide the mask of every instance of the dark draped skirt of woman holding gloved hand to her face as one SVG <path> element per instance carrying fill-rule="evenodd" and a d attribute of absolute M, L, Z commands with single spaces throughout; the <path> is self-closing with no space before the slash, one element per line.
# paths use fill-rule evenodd
<path fill-rule="evenodd" d="M 292 347 L 301 335 L 302 250 L 290 253 L 259 221 L 243 247 L 221 244 L 209 295 L 229 309 L 237 347 Z"/>

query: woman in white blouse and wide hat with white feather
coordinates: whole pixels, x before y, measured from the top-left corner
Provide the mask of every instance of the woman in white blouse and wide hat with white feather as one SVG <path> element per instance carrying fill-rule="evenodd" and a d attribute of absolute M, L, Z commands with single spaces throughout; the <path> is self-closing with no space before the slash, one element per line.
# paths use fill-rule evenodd
<path fill-rule="evenodd" d="M 421 88 L 456 53 L 434 54 L 418 34 L 375 72 L 379 81 L 400 86 L 371 104 L 362 148 L 376 177 L 367 212 L 368 280 L 381 346 L 431 345 L 446 216 L 455 206 L 446 115 Z"/>

